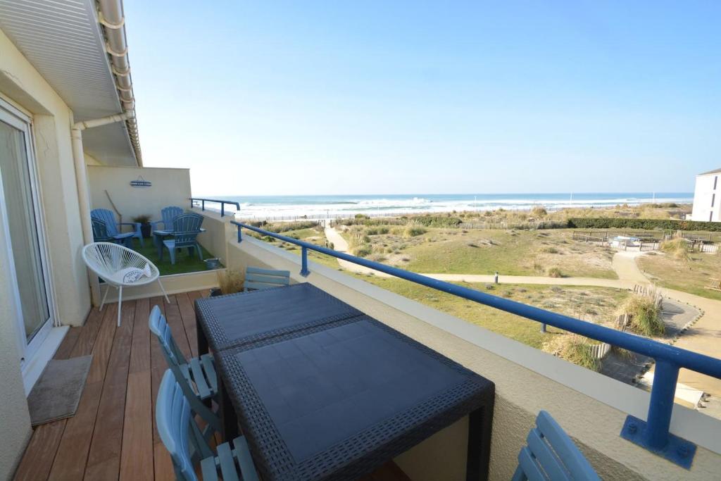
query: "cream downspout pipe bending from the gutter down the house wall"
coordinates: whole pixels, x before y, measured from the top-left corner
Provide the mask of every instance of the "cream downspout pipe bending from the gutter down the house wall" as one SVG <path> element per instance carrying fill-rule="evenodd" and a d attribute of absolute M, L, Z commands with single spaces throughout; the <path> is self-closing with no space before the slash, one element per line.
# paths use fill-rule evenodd
<path fill-rule="evenodd" d="M 92 237 L 92 221 L 90 221 L 90 193 L 87 177 L 87 168 L 85 165 L 85 154 L 83 150 L 83 131 L 86 128 L 99 127 L 109 123 L 125 122 L 126 120 L 135 118 L 135 112 L 128 111 L 121 114 L 109 115 L 94 120 L 82 120 L 76 122 L 70 129 L 71 144 L 73 147 L 73 160 L 75 164 L 75 182 L 78 185 L 78 203 L 80 206 L 80 221 L 83 229 L 83 243 L 89 244 L 93 242 Z M 98 304 L 100 299 L 100 287 L 97 278 L 90 275 L 90 291 L 92 294 L 93 304 Z"/>

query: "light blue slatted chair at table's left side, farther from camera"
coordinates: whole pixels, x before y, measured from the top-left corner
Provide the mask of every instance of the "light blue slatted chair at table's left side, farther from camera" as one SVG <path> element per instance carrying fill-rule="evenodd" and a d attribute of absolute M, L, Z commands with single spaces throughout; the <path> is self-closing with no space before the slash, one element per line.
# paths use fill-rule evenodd
<path fill-rule="evenodd" d="M 215 431 L 221 431 L 221 420 L 208 407 L 211 403 L 208 402 L 206 405 L 204 402 L 212 400 L 218 394 L 218 375 L 213 356 L 203 354 L 200 358 L 187 361 L 175 343 L 170 326 L 158 306 L 154 306 L 151 310 L 148 325 L 150 331 L 158 338 L 165 361 L 185 393 L 190 409 L 207 423 L 203 430 L 203 438 L 210 439 Z"/>

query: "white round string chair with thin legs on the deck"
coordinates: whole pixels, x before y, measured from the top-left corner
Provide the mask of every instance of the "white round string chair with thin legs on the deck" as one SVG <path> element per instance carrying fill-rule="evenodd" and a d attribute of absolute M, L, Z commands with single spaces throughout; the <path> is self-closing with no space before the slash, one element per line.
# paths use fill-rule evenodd
<path fill-rule="evenodd" d="M 107 283 L 102 296 L 100 310 L 105 306 L 105 298 L 110 286 L 118 288 L 118 327 L 120 327 L 120 304 L 123 301 L 123 287 L 144 286 L 158 281 L 165 300 L 170 302 L 165 288 L 160 282 L 160 271 L 146 257 L 134 250 L 112 242 L 93 242 L 83 247 L 83 260 L 90 270 Z M 141 272 L 138 273 L 138 270 Z"/>

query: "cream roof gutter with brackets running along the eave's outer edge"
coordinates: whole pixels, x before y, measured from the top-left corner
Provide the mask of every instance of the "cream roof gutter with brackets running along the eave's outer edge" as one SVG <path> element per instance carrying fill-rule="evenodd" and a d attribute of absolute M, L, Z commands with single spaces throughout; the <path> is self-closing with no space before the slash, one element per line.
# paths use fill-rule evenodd
<path fill-rule="evenodd" d="M 138 167 L 143 167 L 143 156 L 138 138 L 138 123 L 135 119 L 135 97 L 133 96 L 133 79 L 131 65 L 128 61 L 128 42 L 125 37 L 125 17 L 123 0 L 98 0 L 98 22 L 105 32 L 105 50 L 110 55 L 110 68 L 115 76 L 115 87 L 118 89 L 123 112 L 131 112 L 126 119 L 133 151 L 135 151 Z"/>

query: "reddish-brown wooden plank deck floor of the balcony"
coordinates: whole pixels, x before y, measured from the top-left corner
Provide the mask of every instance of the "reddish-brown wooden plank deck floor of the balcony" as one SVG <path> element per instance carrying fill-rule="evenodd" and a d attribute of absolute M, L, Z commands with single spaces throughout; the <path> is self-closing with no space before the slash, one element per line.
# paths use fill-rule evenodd
<path fill-rule="evenodd" d="M 92 309 L 83 327 L 72 327 L 56 359 L 93 355 L 76 415 L 37 426 L 15 473 L 16 480 L 173 480 L 170 457 L 155 428 L 155 397 L 167 365 L 151 338 L 151 306 L 164 311 L 185 356 L 197 356 L 193 301 L 206 292 L 123 302 Z M 366 481 L 404 481 L 392 462 Z"/>

